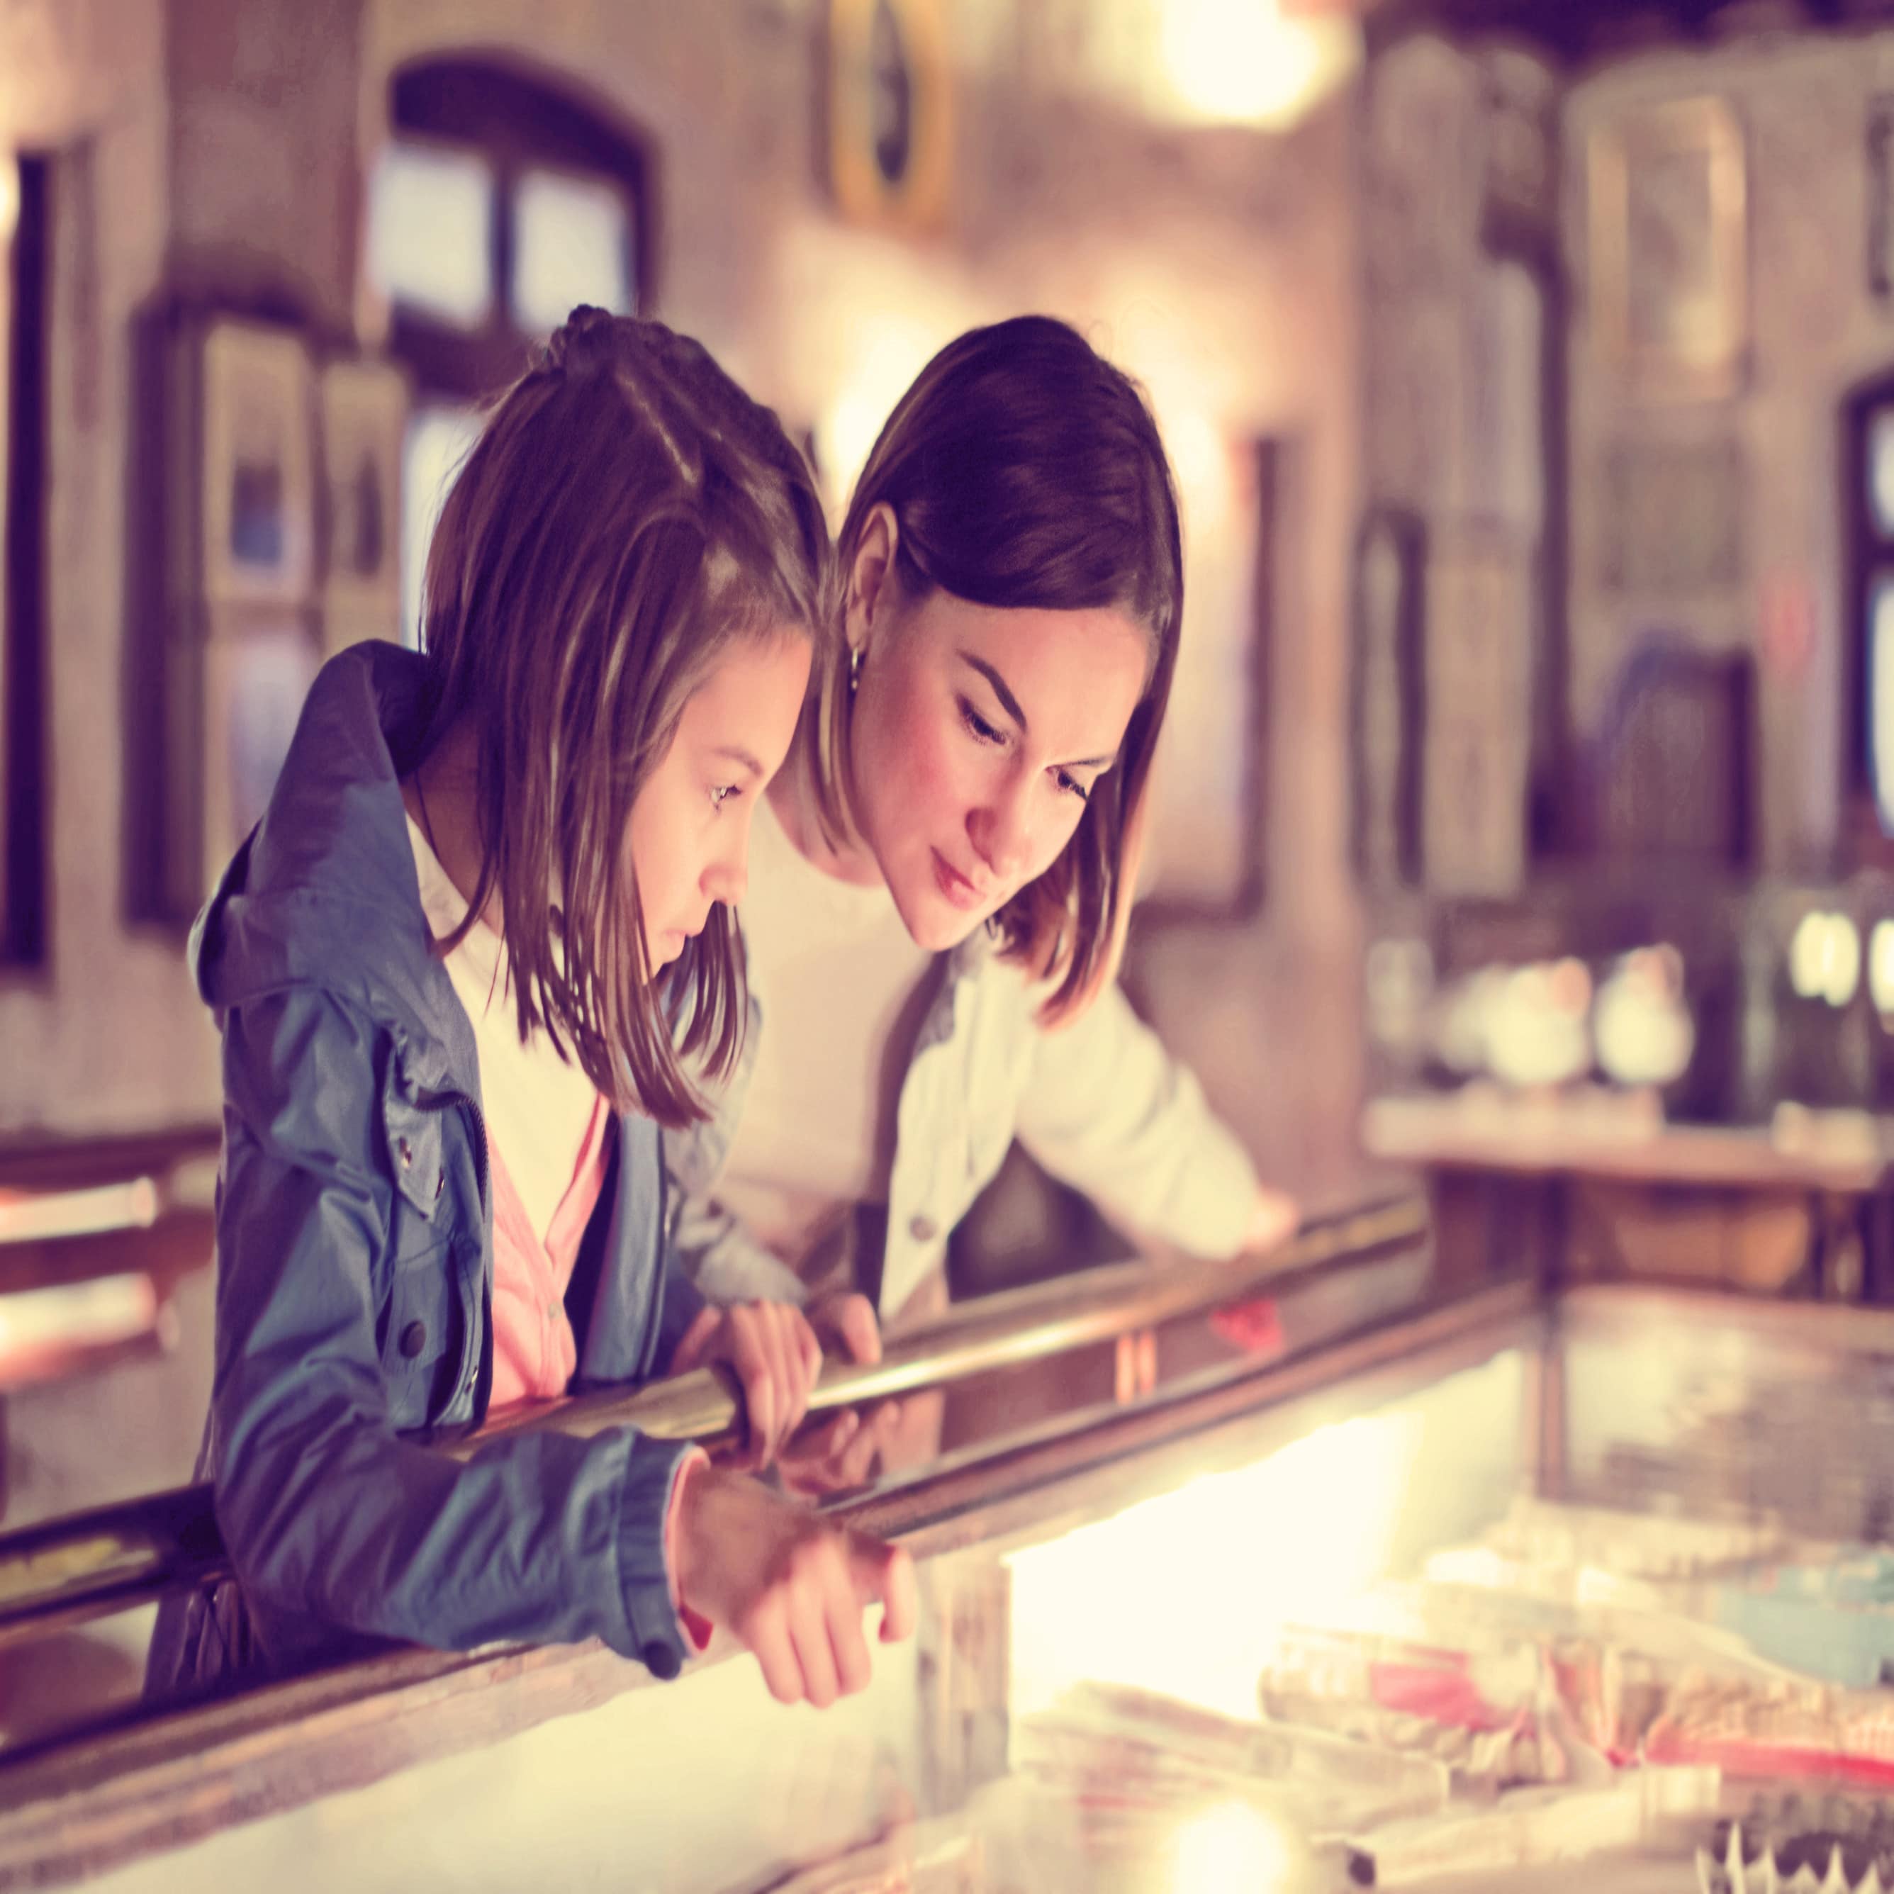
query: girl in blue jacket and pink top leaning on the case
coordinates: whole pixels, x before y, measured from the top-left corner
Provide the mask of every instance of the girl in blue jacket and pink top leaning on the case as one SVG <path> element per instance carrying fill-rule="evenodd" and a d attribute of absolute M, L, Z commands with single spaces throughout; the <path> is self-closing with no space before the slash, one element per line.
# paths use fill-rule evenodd
<path fill-rule="evenodd" d="M 384 1638 L 597 1636 L 669 1676 L 725 1623 L 777 1697 L 828 1703 L 867 1680 L 864 1604 L 909 1629 L 905 1555 L 695 1449 L 407 1438 L 706 1360 L 756 1460 L 801 1417 L 801 1314 L 706 1309 L 670 1260 L 657 1127 L 701 1114 L 680 1057 L 741 1040 L 727 903 L 826 557 L 775 417 L 697 345 L 576 311 L 445 504 L 426 653 L 358 646 L 311 689 L 191 941 L 237 1583 L 167 1610 L 159 1688 Z"/>

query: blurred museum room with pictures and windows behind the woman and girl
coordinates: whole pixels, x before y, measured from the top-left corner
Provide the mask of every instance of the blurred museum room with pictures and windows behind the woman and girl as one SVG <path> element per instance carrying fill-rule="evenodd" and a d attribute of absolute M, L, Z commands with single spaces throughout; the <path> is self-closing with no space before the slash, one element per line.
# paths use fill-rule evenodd
<path fill-rule="evenodd" d="M 186 928 L 578 301 L 837 517 L 1080 324 L 1186 509 L 1127 981 L 1265 1172 L 1894 1297 L 1894 6 L 6 0 L 0 1521 L 189 1474 Z M 1112 1242 L 1015 1157 L 956 1284 Z"/>

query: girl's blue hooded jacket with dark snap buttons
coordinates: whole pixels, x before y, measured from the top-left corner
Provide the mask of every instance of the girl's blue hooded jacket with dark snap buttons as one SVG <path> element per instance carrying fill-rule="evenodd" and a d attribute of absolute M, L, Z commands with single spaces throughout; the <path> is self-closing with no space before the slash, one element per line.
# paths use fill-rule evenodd
<path fill-rule="evenodd" d="M 422 659 L 364 644 L 303 708 L 269 809 L 191 936 L 223 1028 L 216 1379 L 199 1477 L 237 1583 L 172 1599 L 148 1689 L 195 1693 L 400 1638 L 686 1652 L 665 1570 L 684 1447 L 515 1434 L 458 1462 L 492 1385 L 492 1216 L 474 1030 L 430 953 L 398 758 Z M 663 1242 L 650 1119 L 566 1309 L 581 1385 L 642 1381 L 703 1299 Z"/>

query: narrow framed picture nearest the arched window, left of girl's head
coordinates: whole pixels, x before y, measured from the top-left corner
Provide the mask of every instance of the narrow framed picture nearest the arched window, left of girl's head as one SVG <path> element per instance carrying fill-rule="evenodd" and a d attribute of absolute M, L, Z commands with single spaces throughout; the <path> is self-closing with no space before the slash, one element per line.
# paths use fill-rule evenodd
<path fill-rule="evenodd" d="M 322 413 L 322 642 L 402 636 L 402 443 L 407 377 L 392 362 L 330 362 Z"/>

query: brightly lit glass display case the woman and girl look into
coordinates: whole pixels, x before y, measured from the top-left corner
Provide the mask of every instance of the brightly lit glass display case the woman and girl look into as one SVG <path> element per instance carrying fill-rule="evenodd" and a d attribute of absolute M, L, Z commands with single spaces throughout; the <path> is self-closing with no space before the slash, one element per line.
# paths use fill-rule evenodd
<path fill-rule="evenodd" d="M 922 1625 L 828 1712 L 724 1648 L 402 1652 L 0 1752 L 0 1886 L 1885 1886 L 1894 1314 L 1417 1241 L 1284 1277 L 1275 1352 L 1201 1273 L 943 1324 L 941 1379 L 1167 1371 L 839 1504 Z"/>

